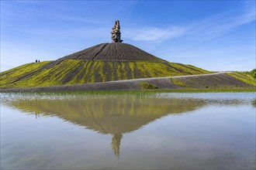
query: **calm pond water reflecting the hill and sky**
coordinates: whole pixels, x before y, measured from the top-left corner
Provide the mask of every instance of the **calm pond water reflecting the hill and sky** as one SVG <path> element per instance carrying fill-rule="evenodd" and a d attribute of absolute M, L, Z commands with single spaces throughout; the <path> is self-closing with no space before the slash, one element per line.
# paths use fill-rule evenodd
<path fill-rule="evenodd" d="M 255 93 L 1 99 L 1 169 L 255 168 Z"/>

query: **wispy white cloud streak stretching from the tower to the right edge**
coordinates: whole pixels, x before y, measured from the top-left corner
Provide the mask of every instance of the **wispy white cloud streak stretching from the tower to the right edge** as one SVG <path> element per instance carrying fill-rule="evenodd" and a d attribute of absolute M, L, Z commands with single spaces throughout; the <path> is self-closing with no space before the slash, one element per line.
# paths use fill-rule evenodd
<path fill-rule="evenodd" d="M 133 41 L 164 42 L 178 37 L 191 37 L 206 41 L 230 32 L 237 26 L 242 26 L 255 20 L 254 5 L 244 5 L 241 12 L 230 12 L 199 19 L 185 26 L 170 26 L 168 28 L 144 27 L 142 29 L 126 29 L 123 36 Z M 135 35 L 135 36 L 134 36 Z"/>

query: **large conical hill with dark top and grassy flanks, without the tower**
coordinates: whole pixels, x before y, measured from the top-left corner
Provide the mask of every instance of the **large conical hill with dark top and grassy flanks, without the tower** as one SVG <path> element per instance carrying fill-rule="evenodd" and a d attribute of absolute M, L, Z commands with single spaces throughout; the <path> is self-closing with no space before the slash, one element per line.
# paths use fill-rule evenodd
<path fill-rule="evenodd" d="M 0 87 L 45 87 L 159 76 L 209 73 L 169 63 L 130 44 L 102 43 L 54 61 L 28 63 L 0 73 Z"/>

